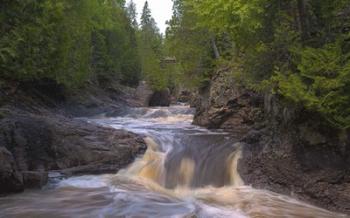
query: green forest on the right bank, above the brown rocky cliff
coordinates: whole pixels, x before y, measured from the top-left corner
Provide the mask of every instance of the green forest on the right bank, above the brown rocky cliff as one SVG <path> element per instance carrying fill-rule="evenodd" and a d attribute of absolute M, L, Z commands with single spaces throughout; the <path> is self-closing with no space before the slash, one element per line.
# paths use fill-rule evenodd
<path fill-rule="evenodd" d="M 174 0 L 173 11 L 166 46 L 195 85 L 230 66 L 245 87 L 350 127 L 348 0 Z"/>

